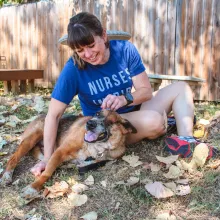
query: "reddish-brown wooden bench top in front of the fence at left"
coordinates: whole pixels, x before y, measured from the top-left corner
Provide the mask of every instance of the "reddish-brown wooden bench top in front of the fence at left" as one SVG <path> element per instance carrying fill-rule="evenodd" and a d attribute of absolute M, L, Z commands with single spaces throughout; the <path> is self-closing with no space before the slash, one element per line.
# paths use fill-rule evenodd
<path fill-rule="evenodd" d="M 0 69 L 0 80 L 26 80 L 43 78 L 43 70 L 12 70 Z"/>

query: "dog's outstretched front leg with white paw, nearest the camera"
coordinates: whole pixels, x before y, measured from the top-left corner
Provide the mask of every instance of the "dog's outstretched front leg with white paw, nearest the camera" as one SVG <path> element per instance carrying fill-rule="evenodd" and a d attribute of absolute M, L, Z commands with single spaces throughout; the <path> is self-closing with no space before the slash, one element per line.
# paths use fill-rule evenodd
<path fill-rule="evenodd" d="M 44 172 L 31 184 L 25 187 L 21 192 L 21 197 L 32 199 L 39 194 L 43 184 L 52 176 L 56 168 L 64 161 L 74 159 L 69 149 L 65 147 L 58 148 L 50 158 Z"/>

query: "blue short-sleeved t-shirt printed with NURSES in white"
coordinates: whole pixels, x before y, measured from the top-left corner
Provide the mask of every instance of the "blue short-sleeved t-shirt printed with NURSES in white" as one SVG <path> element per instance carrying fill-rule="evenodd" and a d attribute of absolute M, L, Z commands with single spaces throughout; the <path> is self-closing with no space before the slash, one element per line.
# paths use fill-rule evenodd
<path fill-rule="evenodd" d="M 107 63 L 87 64 L 84 70 L 77 68 L 70 58 L 56 82 L 52 98 L 68 105 L 78 95 L 83 114 L 93 116 L 101 109 L 102 101 L 108 94 L 130 92 L 133 85 L 131 78 L 145 70 L 140 55 L 129 41 L 112 40 L 109 49 Z M 129 112 L 134 107 L 122 107 L 117 112 Z"/>

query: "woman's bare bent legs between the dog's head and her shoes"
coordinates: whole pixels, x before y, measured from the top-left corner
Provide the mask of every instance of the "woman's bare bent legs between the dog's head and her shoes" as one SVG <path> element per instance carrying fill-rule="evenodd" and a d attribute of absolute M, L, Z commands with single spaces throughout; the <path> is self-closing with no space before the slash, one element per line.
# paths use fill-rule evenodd
<path fill-rule="evenodd" d="M 173 110 L 176 118 L 178 135 L 192 136 L 194 104 L 193 94 L 185 82 L 173 83 L 153 94 L 153 98 L 141 105 L 140 111 L 122 116 L 128 119 L 138 130 L 128 137 L 128 143 L 135 143 L 143 138 L 156 138 L 165 133 L 164 111 Z"/>

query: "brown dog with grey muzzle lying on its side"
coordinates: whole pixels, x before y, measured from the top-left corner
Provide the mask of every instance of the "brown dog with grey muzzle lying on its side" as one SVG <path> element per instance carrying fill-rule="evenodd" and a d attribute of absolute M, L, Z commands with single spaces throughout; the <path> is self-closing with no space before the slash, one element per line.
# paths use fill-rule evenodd
<path fill-rule="evenodd" d="M 17 151 L 11 156 L 0 179 L 1 185 L 12 182 L 13 171 L 21 157 L 32 148 L 39 148 L 43 140 L 45 116 L 31 122 L 22 135 Z M 45 171 L 25 187 L 21 196 L 26 199 L 39 194 L 43 184 L 64 161 L 74 159 L 79 166 L 88 158 L 96 161 L 121 157 L 125 152 L 125 134 L 136 133 L 136 129 L 116 112 L 103 110 L 91 118 L 82 116 L 63 117 L 60 120 L 56 139 L 57 149 L 47 163 Z"/>

